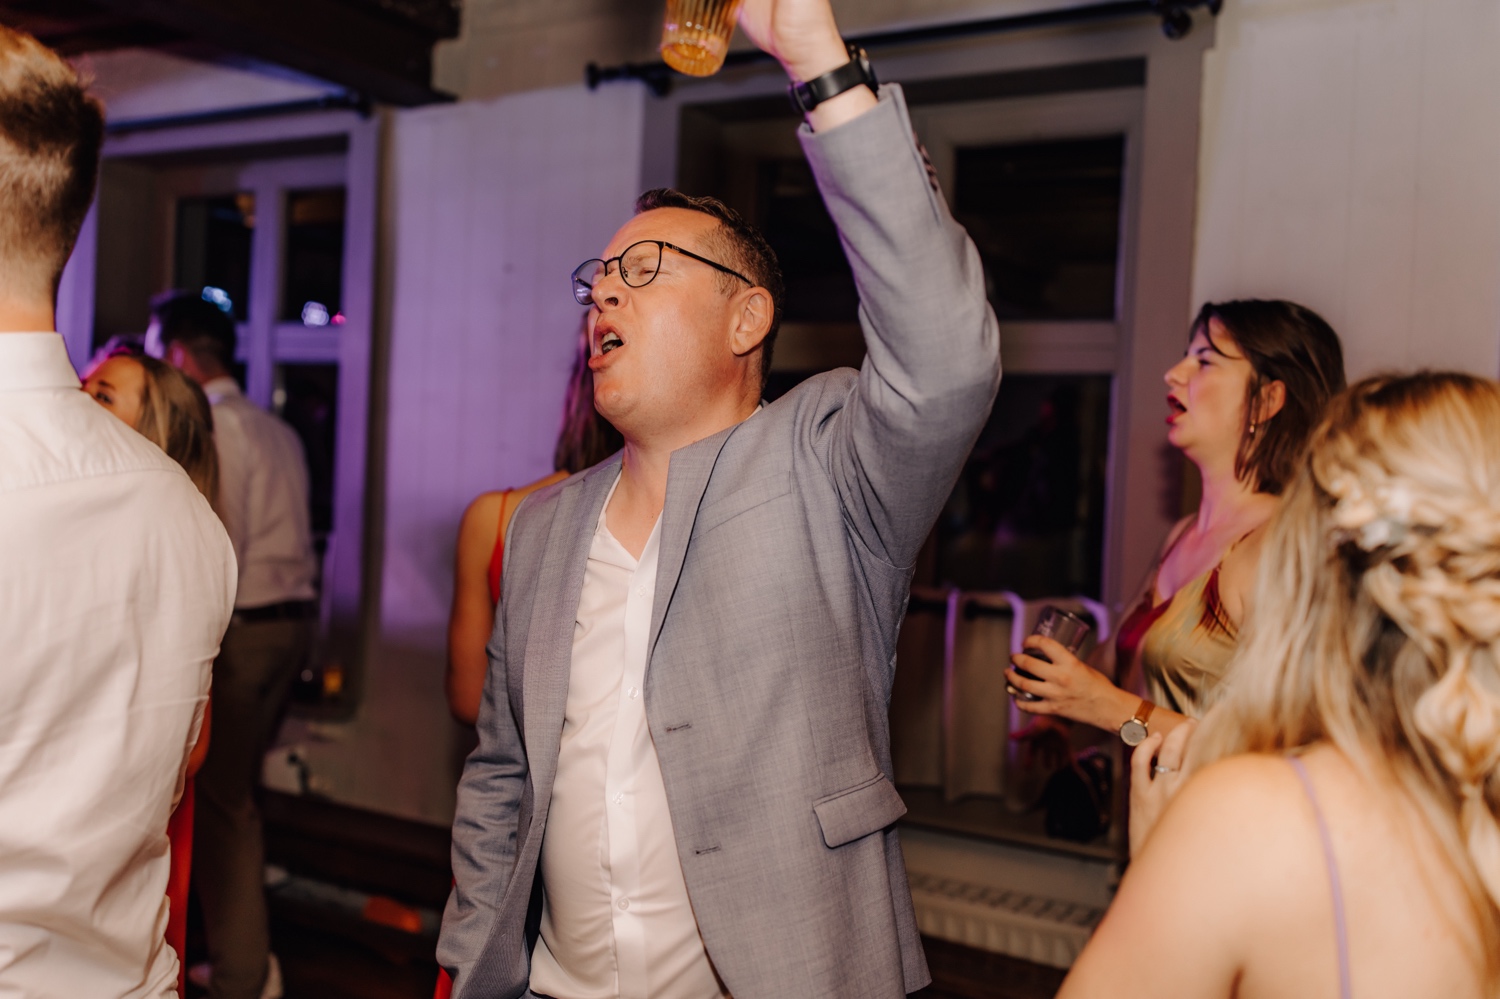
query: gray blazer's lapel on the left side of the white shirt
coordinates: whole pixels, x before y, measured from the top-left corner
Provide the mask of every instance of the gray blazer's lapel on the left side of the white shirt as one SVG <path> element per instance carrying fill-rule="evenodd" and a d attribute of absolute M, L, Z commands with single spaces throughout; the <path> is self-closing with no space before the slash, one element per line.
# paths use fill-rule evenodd
<path fill-rule="evenodd" d="M 573 626 L 584 592 L 588 549 L 594 525 L 604 508 L 609 488 L 620 474 L 620 456 L 597 465 L 580 480 L 564 488 L 548 532 L 548 546 L 537 574 L 537 596 L 531 608 L 522 710 L 526 726 L 526 760 L 532 786 L 538 789 L 537 812 L 544 810 L 542 788 L 550 788 L 556 774 L 558 747 L 562 740 L 562 712 L 573 668 Z"/>

